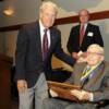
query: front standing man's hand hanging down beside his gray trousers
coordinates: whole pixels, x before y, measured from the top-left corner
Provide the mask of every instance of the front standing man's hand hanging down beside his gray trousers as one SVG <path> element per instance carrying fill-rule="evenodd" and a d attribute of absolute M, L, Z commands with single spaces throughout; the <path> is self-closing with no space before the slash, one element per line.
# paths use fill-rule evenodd
<path fill-rule="evenodd" d="M 24 80 L 20 80 L 17 81 L 17 89 L 20 93 L 25 92 L 25 89 L 27 89 L 27 83 Z"/>

